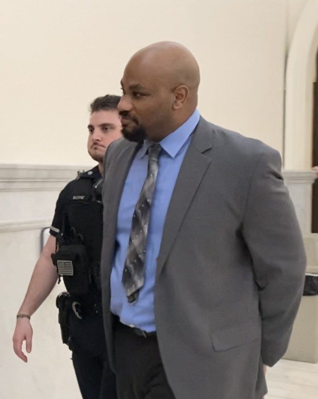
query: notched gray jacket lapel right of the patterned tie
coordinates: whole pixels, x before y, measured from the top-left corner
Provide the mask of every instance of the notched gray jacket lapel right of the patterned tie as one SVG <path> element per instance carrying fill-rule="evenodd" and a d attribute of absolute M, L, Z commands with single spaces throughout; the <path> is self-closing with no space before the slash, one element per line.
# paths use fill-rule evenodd
<path fill-rule="evenodd" d="M 157 258 L 157 275 L 170 253 L 176 234 L 181 227 L 193 196 L 210 165 L 211 159 L 203 153 L 212 147 L 211 127 L 200 119 L 180 168 L 168 208 L 160 252 Z"/>

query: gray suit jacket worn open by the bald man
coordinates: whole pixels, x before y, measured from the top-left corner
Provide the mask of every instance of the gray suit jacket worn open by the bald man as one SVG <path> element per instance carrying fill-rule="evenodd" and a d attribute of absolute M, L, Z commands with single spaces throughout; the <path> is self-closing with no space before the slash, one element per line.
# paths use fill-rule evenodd
<path fill-rule="evenodd" d="M 110 274 L 135 152 L 120 139 L 105 157 L 102 287 L 112 367 Z M 263 363 L 274 365 L 287 349 L 306 261 L 280 169 L 277 151 L 200 119 L 168 208 L 154 287 L 176 399 L 259 399 Z"/>

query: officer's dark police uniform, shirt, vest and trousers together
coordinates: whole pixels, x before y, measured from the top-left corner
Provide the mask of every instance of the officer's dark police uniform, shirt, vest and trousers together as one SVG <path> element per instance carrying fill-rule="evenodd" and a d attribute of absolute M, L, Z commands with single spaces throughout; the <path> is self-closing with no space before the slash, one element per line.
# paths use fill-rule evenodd
<path fill-rule="evenodd" d="M 61 240 L 61 236 L 66 235 L 65 231 L 68 228 L 71 231 L 69 235 L 73 235 L 73 241 L 69 244 L 80 243 L 79 246 L 85 247 L 87 255 L 87 273 L 79 268 L 80 273 L 76 275 L 77 266 L 74 265 L 73 275 L 63 277 L 71 293 L 71 295 L 63 294 L 67 299 L 64 320 L 67 329 L 64 331 L 63 341 L 72 351 L 79 389 L 85 399 L 116 398 L 115 378 L 107 364 L 101 305 L 100 257 L 103 205 L 94 190 L 96 182 L 101 177 L 96 166 L 72 180 L 59 194 L 50 228 L 50 233 L 56 237 L 57 242 Z M 66 245 L 65 248 L 68 250 L 72 247 Z M 74 294 L 73 288 L 69 288 L 72 287 L 74 278 L 81 279 L 81 284 L 84 284 L 79 294 L 76 289 Z M 59 322 L 61 323 L 61 309 Z"/>

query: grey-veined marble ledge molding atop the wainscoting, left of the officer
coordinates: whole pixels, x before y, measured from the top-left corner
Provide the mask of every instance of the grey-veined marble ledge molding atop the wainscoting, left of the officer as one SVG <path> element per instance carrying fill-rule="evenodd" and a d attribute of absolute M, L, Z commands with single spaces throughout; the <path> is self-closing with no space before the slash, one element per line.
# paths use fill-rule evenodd
<path fill-rule="evenodd" d="M 0 164 L 0 191 L 56 191 L 91 166 Z"/>

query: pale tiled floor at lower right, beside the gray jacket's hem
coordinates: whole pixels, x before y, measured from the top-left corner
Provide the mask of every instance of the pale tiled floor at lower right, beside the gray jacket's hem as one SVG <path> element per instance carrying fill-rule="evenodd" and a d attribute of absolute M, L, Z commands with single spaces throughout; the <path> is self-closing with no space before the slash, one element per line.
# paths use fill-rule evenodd
<path fill-rule="evenodd" d="M 281 360 L 267 372 L 265 399 L 318 399 L 318 364 Z"/>

